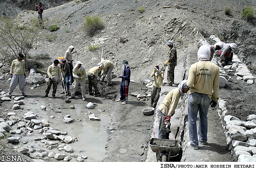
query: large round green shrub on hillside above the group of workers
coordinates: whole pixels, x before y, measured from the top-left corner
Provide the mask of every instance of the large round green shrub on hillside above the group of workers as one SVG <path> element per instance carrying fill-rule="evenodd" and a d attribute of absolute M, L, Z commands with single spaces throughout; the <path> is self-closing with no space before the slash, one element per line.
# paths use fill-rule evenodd
<path fill-rule="evenodd" d="M 97 30 L 104 28 L 104 22 L 98 15 L 84 18 L 83 30 L 93 35 Z"/>

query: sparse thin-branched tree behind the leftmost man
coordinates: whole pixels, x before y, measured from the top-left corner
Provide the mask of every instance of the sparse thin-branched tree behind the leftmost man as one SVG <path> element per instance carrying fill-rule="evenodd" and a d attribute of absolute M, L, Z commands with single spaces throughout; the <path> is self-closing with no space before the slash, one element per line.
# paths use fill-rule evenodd
<path fill-rule="evenodd" d="M 38 40 L 39 27 L 37 18 L 31 19 L 28 24 L 24 25 L 20 19 L 7 17 L 0 18 L 0 44 L 2 48 L 0 53 L 11 52 L 18 57 L 19 52 L 24 54 L 24 60 L 27 60 L 27 54 L 32 45 Z"/>

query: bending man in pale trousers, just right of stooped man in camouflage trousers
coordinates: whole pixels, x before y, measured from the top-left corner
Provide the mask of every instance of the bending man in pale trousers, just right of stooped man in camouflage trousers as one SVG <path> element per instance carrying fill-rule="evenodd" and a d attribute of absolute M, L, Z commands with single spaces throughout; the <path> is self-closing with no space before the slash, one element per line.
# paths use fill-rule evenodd
<path fill-rule="evenodd" d="M 103 67 L 104 67 L 102 74 L 101 74 L 102 77 L 101 77 L 100 81 L 104 81 L 105 77 L 107 76 L 107 85 L 111 85 L 112 84 L 111 72 L 114 68 L 113 62 L 102 58 L 100 64 L 103 64 Z"/>

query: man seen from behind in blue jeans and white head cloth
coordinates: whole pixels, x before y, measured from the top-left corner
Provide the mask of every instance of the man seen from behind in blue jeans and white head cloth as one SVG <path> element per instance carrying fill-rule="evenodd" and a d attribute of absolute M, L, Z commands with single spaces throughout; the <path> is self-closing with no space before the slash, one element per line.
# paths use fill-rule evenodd
<path fill-rule="evenodd" d="M 210 49 L 202 45 L 198 52 L 199 62 L 191 65 L 187 86 L 191 87 L 188 97 L 189 138 L 187 146 L 198 149 L 198 140 L 202 145 L 207 144 L 209 106 L 216 107 L 219 99 L 219 67 L 209 62 Z M 212 93 L 213 91 L 213 93 Z M 199 129 L 197 137 L 196 119 L 199 111 Z"/>

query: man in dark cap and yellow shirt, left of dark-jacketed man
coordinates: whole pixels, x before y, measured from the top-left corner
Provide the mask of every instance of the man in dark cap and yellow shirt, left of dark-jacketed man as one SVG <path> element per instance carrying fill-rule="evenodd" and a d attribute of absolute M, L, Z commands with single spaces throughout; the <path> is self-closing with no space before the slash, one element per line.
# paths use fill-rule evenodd
<path fill-rule="evenodd" d="M 49 76 L 47 89 L 45 90 L 45 95 L 43 98 L 48 97 L 48 94 L 51 89 L 52 84 L 52 98 L 56 98 L 55 94 L 57 91 L 58 83 L 61 81 L 61 67 L 58 66 L 60 62 L 58 60 L 54 60 L 54 62 L 48 67 L 47 75 Z"/>

